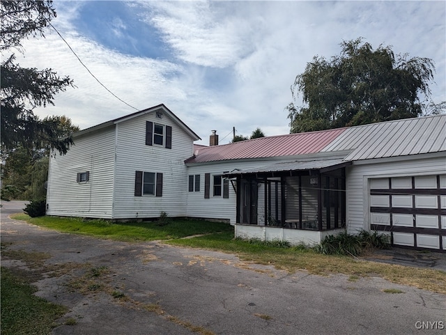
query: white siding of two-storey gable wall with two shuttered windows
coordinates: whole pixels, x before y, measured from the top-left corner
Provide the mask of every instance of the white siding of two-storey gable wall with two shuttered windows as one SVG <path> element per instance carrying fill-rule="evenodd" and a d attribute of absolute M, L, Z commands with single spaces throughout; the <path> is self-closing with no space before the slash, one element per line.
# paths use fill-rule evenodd
<path fill-rule="evenodd" d="M 172 148 L 146 146 L 146 121 L 172 127 Z M 117 125 L 114 219 L 186 215 L 187 168 L 192 156 L 189 134 L 167 114 L 162 119 L 144 114 Z M 134 196 L 135 171 L 163 174 L 162 196 Z"/>

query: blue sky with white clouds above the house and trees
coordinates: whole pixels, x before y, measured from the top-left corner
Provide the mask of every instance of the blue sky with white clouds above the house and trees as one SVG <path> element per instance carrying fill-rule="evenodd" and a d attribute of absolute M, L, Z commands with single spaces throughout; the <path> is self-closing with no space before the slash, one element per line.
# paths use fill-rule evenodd
<path fill-rule="evenodd" d="M 22 66 L 52 68 L 75 88 L 40 117 L 82 129 L 165 104 L 208 145 L 289 133 L 291 85 L 314 56 L 363 38 L 432 59 L 432 100 L 446 101 L 446 1 L 54 1 L 45 38 L 23 41 Z M 109 93 L 89 71 L 114 95 Z M 298 95 L 295 103 L 302 104 Z"/>

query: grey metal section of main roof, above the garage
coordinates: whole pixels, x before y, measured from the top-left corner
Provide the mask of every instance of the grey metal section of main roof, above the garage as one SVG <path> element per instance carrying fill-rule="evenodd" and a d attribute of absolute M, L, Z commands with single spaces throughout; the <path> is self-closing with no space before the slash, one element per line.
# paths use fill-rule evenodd
<path fill-rule="evenodd" d="M 338 150 L 353 150 L 346 160 L 446 151 L 446 115 L 350 127 L 321 151 Z"/>

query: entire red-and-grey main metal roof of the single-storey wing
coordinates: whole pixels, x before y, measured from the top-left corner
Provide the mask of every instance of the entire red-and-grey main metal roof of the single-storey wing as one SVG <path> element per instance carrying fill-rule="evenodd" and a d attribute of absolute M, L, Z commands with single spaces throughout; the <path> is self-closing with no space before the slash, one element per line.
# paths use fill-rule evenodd
<path fill-rule="evenodd" d="M 262 137 L 222 146 L 198 148 L 194 157 L 187 159 L 186 163 L 341 151 L 350 152 L 344 157 L 344 161 L 445 152 L 446 115 Z"/>

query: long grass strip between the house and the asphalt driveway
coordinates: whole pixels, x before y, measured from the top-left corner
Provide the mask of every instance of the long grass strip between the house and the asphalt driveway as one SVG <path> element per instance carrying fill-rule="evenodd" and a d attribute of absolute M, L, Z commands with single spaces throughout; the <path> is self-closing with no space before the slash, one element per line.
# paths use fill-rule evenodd
<path fill-rule="evenodd" d="M 199 220 L 171 219 L 160 226 L 157 222 L 111 224 L 104 220 L 37 217 L 14 215 L 31 224 L 66 233 L 91 235 L 129 242 L 164 240 L 185 247 L 212 249 L 236 254 L 241 260 L 274 265 L 280 270 L 306 270 L 311 274 L 346 274 L 352 279 L 380 276 L 384 279 L 424 290 L 446 294 L 446 272 L 401 265 L 369 262 L 348 256 L 325 256 L 312 249 L 286 247 L 283 244 L 243 241 L 233 238 L 233 226 Z M 194 235 L 199 235 L 191 238 Z"/>

